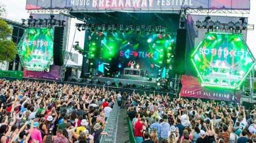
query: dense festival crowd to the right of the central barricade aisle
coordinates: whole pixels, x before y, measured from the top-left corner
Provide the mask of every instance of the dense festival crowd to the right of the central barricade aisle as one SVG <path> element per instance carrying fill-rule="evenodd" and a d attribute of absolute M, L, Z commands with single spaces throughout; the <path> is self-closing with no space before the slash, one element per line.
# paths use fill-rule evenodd
<path fill-rule="evenodd" d="M 137 143 L 256 143 L 256 106 L 224 101 L 125 95 Z M 124 106 L 123 106 L 124 107 Z"/>

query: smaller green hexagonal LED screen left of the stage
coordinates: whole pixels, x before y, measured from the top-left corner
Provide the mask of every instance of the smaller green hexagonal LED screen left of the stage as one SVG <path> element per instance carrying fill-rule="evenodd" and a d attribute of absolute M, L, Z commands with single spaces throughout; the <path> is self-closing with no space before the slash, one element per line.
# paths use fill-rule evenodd
<path fill-rule="evenodd" d="M 17 50 L 26 70 L 48 71 L 53 60 L 53 29 L 27 29 Z"/>

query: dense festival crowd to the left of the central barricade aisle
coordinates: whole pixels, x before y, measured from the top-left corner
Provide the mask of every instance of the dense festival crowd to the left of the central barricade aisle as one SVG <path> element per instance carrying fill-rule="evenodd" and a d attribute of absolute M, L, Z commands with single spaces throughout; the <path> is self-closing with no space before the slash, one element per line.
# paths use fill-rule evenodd
<path fill-rule="evenodd" d="M 114 91 L 3 79 L 0 89 L 0 143 L 97 143 L 108 135 Z"/>

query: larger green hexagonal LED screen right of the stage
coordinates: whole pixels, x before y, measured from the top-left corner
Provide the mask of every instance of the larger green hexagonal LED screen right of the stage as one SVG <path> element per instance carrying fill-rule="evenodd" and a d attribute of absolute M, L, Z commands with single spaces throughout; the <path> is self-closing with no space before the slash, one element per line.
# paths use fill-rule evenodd
<path fill-rule="evenodd" d="M 206 33 L 191 58 L 207 87 L 238 89 L 255 65 L 242 34 Z"/>

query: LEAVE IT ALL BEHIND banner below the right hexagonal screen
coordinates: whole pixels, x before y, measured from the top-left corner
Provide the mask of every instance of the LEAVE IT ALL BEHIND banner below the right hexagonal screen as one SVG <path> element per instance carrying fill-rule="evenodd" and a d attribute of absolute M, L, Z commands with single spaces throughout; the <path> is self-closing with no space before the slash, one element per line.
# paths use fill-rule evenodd
<path fill-rule="evenodd" d="M 180 94 L 182 97 L 224 100 L 239 103 L 242 96 L 242 90 L 202 87 L 199 78 L 194 76 L 182 75 L 181 84 L 182 88 Z"/>

